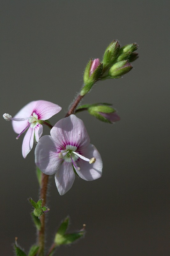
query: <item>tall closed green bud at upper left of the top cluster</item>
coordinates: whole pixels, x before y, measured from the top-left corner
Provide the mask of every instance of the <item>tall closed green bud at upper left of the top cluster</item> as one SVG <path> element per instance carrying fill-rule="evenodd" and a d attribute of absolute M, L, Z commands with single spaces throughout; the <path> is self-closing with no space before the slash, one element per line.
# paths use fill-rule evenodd
<path fill-rule="evenodd" d="M 119 53 L 119 49 L 120 44 L 118 41 L 115 40 L 106 48 L 102 61 L 104 71 L 106 71 L 106 69 L 113 64 Z"/>

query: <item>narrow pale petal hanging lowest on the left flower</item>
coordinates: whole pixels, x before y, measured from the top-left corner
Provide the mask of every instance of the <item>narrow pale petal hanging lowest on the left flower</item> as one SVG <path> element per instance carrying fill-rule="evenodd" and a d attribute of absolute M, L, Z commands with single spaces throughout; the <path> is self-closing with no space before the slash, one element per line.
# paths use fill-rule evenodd
<path fill-rule="evenodd" d="M 28 155 L 28 153 L 33 148 L 33 137 L 34 137 L 34 129 L 29 127 L 26 135 L 24 136 L 24 140 L 22 142 L 22 155 L 24 158 Z"/>

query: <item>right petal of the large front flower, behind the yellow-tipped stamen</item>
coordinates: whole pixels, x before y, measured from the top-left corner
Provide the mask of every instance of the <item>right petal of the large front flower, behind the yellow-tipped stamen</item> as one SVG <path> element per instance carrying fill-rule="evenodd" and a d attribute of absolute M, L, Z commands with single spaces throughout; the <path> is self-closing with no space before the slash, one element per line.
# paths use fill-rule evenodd
<path fill-rule="evenodd" d="M 89 159 L 95 157 L 96 162 L 93 164 L 89 164 L 89 162 L 86 162 L 79 158 L 78 161 L 76 161 L 76 164 L 78 164 L 80 170 L 76 170 L 76 172 L 78 173 L 80 178 L 82 178 L 83 180 L 99 179 L 102 174 L 103 163 L 98 150 L 95 148 L 94 145 L 90 144 L 87 148 L 84 148 L 81 154 Z"/>

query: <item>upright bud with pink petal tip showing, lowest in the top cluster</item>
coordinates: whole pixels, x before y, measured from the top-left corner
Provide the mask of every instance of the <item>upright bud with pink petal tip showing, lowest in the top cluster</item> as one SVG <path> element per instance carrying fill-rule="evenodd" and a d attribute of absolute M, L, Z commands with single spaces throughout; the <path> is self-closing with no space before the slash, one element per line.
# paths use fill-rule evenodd
<path fill-rule="evenodd" d="M 90 91 L 93 84 L 100 78 L 102 74 L 103 65 L 100 63 L 99 59 L 90 59 L 87 63 L 84 73 L 84 87 L 80 92 L 81 96 L 84 96 Z"/>

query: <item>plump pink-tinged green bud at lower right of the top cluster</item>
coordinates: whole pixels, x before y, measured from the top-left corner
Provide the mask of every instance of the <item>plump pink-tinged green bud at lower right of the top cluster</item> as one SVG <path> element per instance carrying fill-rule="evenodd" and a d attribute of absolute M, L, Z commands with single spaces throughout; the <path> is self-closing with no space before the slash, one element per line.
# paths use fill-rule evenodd
<path fill-rule="evenodd" d="M 132 69 L 128 60 L 116 62 L 109 70 L 110 78 L 120 78 Z"/>

